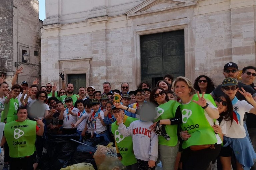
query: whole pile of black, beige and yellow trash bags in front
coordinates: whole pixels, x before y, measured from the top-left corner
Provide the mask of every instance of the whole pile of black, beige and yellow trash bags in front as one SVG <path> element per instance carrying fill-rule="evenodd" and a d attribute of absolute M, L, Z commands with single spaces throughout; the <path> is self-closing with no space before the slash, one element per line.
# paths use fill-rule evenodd
<path fill-rule="evenodd" d="M 45 146 L 47 153 L 43 154 L 39 168 L 41 170 L 126 169 L 117 158 L 116 148 L 112 146 L 112 142 L 88 139 L 81 143 L 78 139 L 79 136 L 76 134 L 48 134 Z"/>

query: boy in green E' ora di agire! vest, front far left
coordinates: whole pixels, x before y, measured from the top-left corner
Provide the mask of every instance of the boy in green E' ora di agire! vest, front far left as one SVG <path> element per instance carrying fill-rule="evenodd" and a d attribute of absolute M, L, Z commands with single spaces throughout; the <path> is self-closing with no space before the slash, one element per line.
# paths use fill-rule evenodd
<path fill-rule="evenodd" d="M 18 120 L 9 122 L 4 128 L 1 146 L 7 142 L 10 147 L 10 170 L 33 170 L 36 135 L 43 135 L 42 120 L 27 120 L 27 109 L 21 106 L 17 110 Z M 40 125 L 40 128 L 37 126 Z"/>

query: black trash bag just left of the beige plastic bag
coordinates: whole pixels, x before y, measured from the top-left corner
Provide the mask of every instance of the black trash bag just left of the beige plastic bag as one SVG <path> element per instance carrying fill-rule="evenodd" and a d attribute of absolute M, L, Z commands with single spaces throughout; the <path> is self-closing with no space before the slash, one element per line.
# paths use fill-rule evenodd
<path fill-rule="evenodd" d="M 90 163 L 93 165 L 94 169 L 97 170 L 96 163 L 93 159 L 93 154 L 96 152 L 97 148 L 93 146 L 86 146 L 86 145 L 78 145 L 76 148 L 76 151 L 73 155 L 73 159 L 71 164 L 77 164 L 77 163 Z"/>

